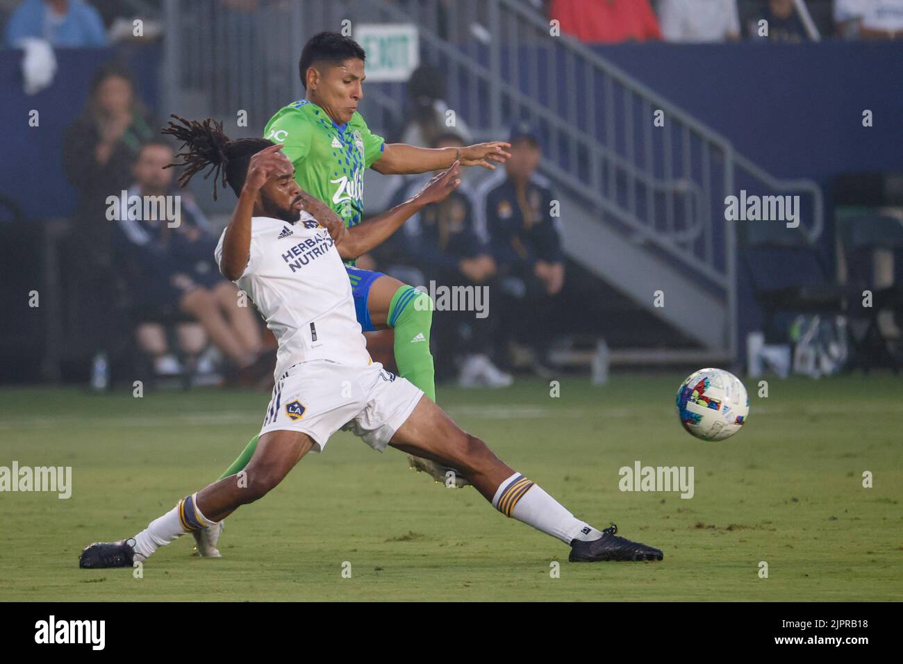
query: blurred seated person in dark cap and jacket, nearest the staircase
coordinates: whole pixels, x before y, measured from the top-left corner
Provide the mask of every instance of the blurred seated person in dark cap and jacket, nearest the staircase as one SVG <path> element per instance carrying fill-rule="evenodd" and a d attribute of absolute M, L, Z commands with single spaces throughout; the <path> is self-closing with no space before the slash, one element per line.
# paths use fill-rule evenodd
<path fill-rule="evenodd" d="M 479 185 L 477 230 L 489 236 L 496 259 L 505 311 L 507 339 L 519 339 L 533 351 L 533 369 L 545 367 L 554 335 L 558 295 L 564 284 L 561 238 L 552 216 L 549 181 L 536 173 L 542 147 L 535 129 L 515 126 L 508 139 L 511 157 Z"/>

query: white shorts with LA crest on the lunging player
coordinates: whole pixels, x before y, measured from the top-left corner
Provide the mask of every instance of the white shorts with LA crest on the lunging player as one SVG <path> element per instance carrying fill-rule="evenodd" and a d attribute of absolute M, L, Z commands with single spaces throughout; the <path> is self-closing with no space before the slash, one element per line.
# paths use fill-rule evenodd
<path fill-rule="evenodd" d="M 322 452 L 330 435 L 351 431 L 382 452 L 424 393 L 379 362 L 367 367 L 311 360 L 276 381 L 260 435 L 301 431 Z"/>

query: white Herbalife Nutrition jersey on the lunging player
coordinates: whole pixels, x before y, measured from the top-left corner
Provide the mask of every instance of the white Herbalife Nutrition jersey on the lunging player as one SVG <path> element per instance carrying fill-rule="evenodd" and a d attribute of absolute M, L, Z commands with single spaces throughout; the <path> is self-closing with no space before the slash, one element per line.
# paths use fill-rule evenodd
<path fill-rule="evenodd" d="M 223 230 L 214 252 L 217 265 L 225 237 Z M 276 379 L 308 360 L 370 364 L 339 250 L 307 212 L 294 223 L 252 218 L 250 257 L 235 283 L 279 342 Z"/>

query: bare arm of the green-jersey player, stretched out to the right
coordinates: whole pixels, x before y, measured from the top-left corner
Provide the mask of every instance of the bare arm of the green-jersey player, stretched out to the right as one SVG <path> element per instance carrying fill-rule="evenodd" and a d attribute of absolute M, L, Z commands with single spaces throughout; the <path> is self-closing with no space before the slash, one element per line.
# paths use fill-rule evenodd
<path fill-rule="evenodd" d="M 508 143 L 492 141 L 468 147 L 415 147 L 404 143 L 386 144 L 382 156 L 371 166 L 377 173 L 392 175 L 396 173 L 426 173 L 440 168 L 448 168 L 452 162 L 460 162 L 462 166 L 482 166 L 495 169 L 495 164 L 504 164 L 511 156 L 507 153 Z"/>

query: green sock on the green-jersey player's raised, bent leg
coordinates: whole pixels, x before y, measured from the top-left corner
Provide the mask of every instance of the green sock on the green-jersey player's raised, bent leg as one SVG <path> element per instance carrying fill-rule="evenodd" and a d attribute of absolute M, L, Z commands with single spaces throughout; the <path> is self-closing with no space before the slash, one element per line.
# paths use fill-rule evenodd
<path fill-rule="evenodd" d="M 392 295 L 387 323 L 395 330 L 398 375 L 410 380 L 435 401 L 435 369 L 430 352 L 433 300 L 413 286 L 404 285 Z"/>

